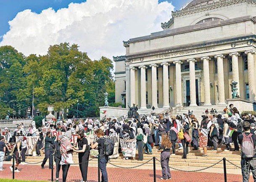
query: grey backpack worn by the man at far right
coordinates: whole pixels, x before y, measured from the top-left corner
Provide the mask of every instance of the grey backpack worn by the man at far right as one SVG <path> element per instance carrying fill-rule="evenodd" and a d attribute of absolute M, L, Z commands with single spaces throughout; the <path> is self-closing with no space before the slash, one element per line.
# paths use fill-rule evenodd
<path fill-rule="evenodd" d="M 253 144 L 253 138 L 251 137 L 253 134 L 250 133 L 248 136 L 243 133 L 243 141 L 242 141 L 242 154 L 245 158 L 252 158 L 255 155 L 255 147 Z"/>

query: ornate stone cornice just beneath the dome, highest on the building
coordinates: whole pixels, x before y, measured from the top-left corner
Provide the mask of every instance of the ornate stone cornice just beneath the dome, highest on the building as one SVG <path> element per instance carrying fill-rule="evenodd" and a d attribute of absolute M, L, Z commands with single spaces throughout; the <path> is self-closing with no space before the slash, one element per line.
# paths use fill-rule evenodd
<path fill-rule="evenodd" d="M 213 2 L 206 5 L 200 5 L 200 6 L 191 6 L 188 8 L 183 8 L 182 10 L 176 10 L 172 12 L 172 17 L 179 17 L 184 15 L 189 15 L 193 13 L 199 13 L 207 10 L 213 10 L 216 8 L 222 8 L 222 7 L 228 7 L 231 5 L 237 5 L 242 3 L 250 3 L 250 4 L 256 4 L 256 1 L 251 0 L 220 0 L 218 2 Z"/>

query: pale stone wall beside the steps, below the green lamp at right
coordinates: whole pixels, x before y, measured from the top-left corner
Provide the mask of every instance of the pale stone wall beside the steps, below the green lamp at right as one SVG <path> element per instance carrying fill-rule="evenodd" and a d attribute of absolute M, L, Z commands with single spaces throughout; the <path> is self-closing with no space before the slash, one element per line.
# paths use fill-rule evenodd
<path fill-rule="evenodd" d="M 241 113 L 245 110 L 254 110 L 256 111 L 256 102 L 252 102 L 245 99 L 227 99 L 227 105 L 233 104 L 234 107 L 238 108 L 238 111 Z"/>

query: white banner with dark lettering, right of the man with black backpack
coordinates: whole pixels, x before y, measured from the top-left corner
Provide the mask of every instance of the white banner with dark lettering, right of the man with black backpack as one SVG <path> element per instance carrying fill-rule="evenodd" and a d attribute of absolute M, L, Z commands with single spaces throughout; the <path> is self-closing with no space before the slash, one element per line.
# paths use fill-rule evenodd
<path fill-rule="evenodd" d="M 124 140 L 120 138 L 120 146 L 124 157 L 135 157 L 136 139 Z"/>

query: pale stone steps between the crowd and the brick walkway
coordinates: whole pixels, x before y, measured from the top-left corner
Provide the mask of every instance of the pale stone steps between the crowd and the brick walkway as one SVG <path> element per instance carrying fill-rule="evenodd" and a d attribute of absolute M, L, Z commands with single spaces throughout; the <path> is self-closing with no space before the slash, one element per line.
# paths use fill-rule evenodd
<path fill-rule="evenodd" d="M 178 148 L 178 145 L 176 144 L 176 149 Z M 143 161 L 137 161 L 138 154 L 136 151 L 136 157 L 135 159 L 129 159 L 124 160 L 124 157 L 122 154 L 117 159 L 111 159 L 110 163 L 121 166 L 121 167 L 136 167 L 140 164 L 143 164 L 147 162 L 148 160 L 152 159 L 153 156 L 156 157 L 160 161 L 160 155 L 161 153 L 157 151 L 158 147 L 154 147 L 152 149 L 153 154 L 143 154 Z M 170 157 L 169 165 L 175 169 L 179 170 L 197 170 L 197 169 L 203 169 L 206 167 L 210 167 L 211 165 L 217 163 L 218 161 L 222 160 L 223 157 L 225 157 L 227 160 L 231 161 L 233 164 L 240 166 L 240 152 L 235 151 L 224 151 L 224 146 L 219 146 L 217 151 L 211 151 L 212 148 L 208 148 L 207 157 L 203 157 L 203 150 L 200 148 L 199 150 L 192 150 L 192 147 L 189 147 L 189 154 L 187 154 L 187 159 L 182 159 L 183 150 L 177 151 L 176 155 Z M 41 154 L 42 156 L 27 156 L 26 162 L 29 163 L 36 163 L 40 162 L 44 158 L 44 154 Z M 74 163 L 78 163 L 78 155 L 74 153 L 73 155 Z M 92 159 L 92 158 L 90 158 Z M 41 163 L 37 164 L 40 165 Z M 114 167 L 113 165 L 108 164 L 108 167 Z M 48 162 L 46 163 L 48 165 Z M 76 164 L 77 165 L 77 164 Z M 78 166 L 78 165 L 77 165 Z M 89 167 L 98 167 L 98 159 L 94 158 L 89 162 Z M 139 167 L 139 169 L 153 169 L 153 160 L 149 161 L 147 164 L 144 164 Z M 161 170 L 161 164 L 156 160 L 156 169 Z M 128 170 L 128 169 L 127 169 Z M 216 164 L 214 167 L 211 167 L 209 169 L 203 170 L 202 172 L 223 172 L 223 161 L 221 161 L 219 164 Z M 240 172 L 240 169 L 238 167 L 235 167 L 234 165 L 227 162 L 227 172 L 238 174 Z"/>

